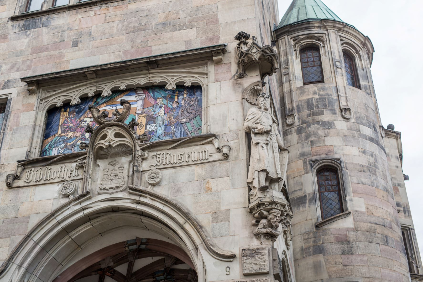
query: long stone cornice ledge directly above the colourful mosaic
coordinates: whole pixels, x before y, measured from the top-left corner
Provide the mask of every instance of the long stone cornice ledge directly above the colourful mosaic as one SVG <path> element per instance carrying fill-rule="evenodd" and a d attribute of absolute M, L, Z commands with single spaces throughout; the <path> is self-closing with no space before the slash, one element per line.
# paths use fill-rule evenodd
<path fill-rule="evenodd" d="M 193 49 L 186 49 L 176 52 L 169 52 L 164 54 L 157 54 L 157 55 L 151 55 L 146 57 L 140 57 L 135 59 L 129 59 L 129 60 L 121 60 L 111 63 L 104 63 L 99 64 L 95 66 L 87 66 L 83 68 L 73 68 L 63 71 L 57 71 L 54 73 L 47 73 L 47 74 L 38 74 L 30 77 L 22 77 L 21 82 L 26 82 L 28 86 L 33 85 L 33 87 L 38 88 L 38 83 L 43 82 L 50 82 L 54 80 L 63 80 L 63 79 L 76 79 L 78 77 L 85 77 L 87 78 L 94 78 L 99 77 L 99 75 L 107 75 L 111 72 L 116 71 L 134 71 L 135 68 L 145 68 L 145 69 L 151 69 L 151 68 L 158 68 L 158 64 L 161 63 L 161 61 L 167 61 L 169 59 L 175 59 L 175 60 L 183 60 L 187 57 L 190 59 L 195 57 L 220 57 L 223 52 L 226 50 L 227 44 L 216 44 L 206 47 L 199 47 L 199 48 L 193 48 Z M 128 68 L 128 66 L 131 66 Z M 36 90 L 34 90 L 36 91 Z M 33 92 L 34 92 L 33 91 Z M 30 91 L 31 92 L 31 91 Z"/>

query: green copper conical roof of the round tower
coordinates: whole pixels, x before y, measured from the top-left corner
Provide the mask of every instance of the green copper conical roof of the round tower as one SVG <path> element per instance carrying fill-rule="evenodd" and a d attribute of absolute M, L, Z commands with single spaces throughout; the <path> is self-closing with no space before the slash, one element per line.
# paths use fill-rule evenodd
<path fill-rule="evenodd" d="M 286 10 L 276 29 L 299 22 L 332 19 L 343 22 L 334 12 L 320 0 L 294 0 Z"/>

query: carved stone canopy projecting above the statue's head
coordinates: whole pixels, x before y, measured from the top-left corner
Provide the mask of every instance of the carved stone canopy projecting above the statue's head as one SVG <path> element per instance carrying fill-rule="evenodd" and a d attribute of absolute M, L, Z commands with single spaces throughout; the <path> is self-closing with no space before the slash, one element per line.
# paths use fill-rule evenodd
<path fill-rule="evenodd" d="M 261 47 L 253 36 L 253 39 L 248 43 L 250 35 L 243 31 L 240 31 L 236 36 L 235 40 L 238 40 L 236 44 L 236 53 L 238 60 L 238 71 L 236 72 L 236 78 L 245 77 L 247 74 L 245 71 L 248 66 L 252 63 L 260 64 L 260 71 L 262 79 L 268 75 L 271 76 L 277 70 L 277 53 L 271 46 L 265 45 Z"/>

